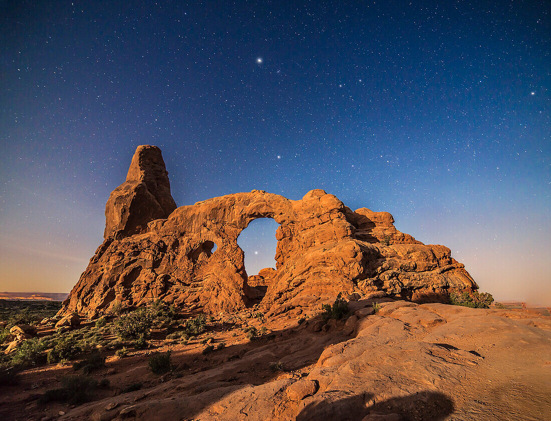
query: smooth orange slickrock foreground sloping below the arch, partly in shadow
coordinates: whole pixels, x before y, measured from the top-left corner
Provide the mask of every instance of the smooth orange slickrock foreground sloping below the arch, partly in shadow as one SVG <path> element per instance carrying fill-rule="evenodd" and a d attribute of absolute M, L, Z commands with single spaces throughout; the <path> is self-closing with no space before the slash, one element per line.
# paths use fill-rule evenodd
<path fill-rule="evenodd" d="M 350 308 L 361 315 L 370 303 Z M 549 317 L 404 301 L 351 317 L 352 324 L 313 332 L 314 322 L 298 326 L 280 315 L 266 322 L 272 340 L 229 343 L 208 357 L 174 351 L 181 378 L 156 378 L 148 390 L 84 404 L 61 419 L 551 419 Z M 288 371 L 272 373 L 274 361 Z M 123 363 L 108 365 L 121 370 L 112 382 L 154 377 L 143 361 Z"/>

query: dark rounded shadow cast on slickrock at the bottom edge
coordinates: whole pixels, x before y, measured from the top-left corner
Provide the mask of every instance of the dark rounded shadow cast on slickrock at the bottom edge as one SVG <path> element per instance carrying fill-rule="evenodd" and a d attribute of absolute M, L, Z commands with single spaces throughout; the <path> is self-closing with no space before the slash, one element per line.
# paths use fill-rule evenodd
<path fill-rule="evenodd" d="M 342 393 L 323 393 L 323 401 L 307 405 L 296 421 L 439 421 L 450 415 L 454 408 L 449 396 L 433 391 L 389 398 L 368 408 L 365 402 L 372 398 L 369 393 L 345 398 L 342 398 Z"/>

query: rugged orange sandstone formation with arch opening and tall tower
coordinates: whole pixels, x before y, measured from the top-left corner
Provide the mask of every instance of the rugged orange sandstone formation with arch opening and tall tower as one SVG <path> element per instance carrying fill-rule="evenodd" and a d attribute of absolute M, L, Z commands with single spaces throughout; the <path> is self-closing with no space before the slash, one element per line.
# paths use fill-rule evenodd
<path fill-rule="evenodd" d="M 424 302 L 445 300 L 451 289 L 478 288 L 449 248 L 420 243 L 397 231 L 388 212 L 353 212 L 323 190 L 300 200 L 253 190 L 176 208 L 156 146 L 138 147 L 105 214 L 104 243 L 59 314 L 94 318 L 116 302 L 133 307 L 155 299 L 213 312 L 262 299 L 278 313 L 329 302 L 338 293 L 382 291 Z M 237 245 L 256 218 L 280 225 L 276 270 L 266 272 L 263 297 L 247 284 Z"/>

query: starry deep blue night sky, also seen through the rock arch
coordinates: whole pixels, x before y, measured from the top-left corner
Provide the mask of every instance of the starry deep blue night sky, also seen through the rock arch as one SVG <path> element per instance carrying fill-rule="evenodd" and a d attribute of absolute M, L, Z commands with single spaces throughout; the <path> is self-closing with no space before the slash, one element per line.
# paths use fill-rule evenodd
<path fill-rule="evenodd" d="M 70 291 L 153 144 L 178 205 L 322 188 L 551 304 L 549 2 L 144 3 L 0 3 L 0 291 Z"/>

